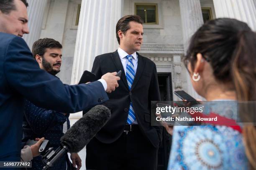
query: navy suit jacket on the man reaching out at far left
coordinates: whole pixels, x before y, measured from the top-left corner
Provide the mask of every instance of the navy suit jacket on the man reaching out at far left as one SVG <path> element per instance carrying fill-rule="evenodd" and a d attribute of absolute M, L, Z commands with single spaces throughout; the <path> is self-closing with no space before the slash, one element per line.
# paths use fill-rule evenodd
<path fill-rule="evenodd" d="M 24 97 L 69 113 L 108 100 L 101 82 L 64 85 L 40 69 L 22 38 L 0 32 L 0 161 L 20 160 Z"/>

